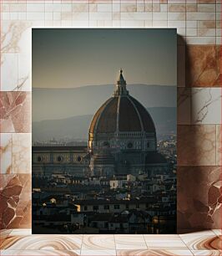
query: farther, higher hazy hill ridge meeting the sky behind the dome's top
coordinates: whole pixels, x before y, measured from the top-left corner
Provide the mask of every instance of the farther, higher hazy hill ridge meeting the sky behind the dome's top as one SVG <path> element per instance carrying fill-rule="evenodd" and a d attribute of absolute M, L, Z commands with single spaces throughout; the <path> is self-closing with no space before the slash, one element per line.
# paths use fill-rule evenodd
<path fill-rule="evenodd" d="M 130 95 L 147 108 L 176 107 L 175 86 L 128 84 L 127 89 Z M 88 85 L 74 89 L 33 88 L 33 121 L 59 122 L 59 119 L 67 119 L 71 122 L 77 119 L 80 123 L 86 122 L 89 115 L 93 115 L 113 93 L 114 84 Z M 70 116 L 73 117 L 69 119 Z"/>

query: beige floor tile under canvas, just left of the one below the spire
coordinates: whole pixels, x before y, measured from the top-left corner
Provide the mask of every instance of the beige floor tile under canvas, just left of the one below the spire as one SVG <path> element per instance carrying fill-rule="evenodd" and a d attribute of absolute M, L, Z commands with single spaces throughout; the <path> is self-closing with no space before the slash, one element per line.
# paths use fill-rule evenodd
<path fill-rule="evenodd" d="M 114 235 L 83 235 L 82 250 L 113 250 Z"/>

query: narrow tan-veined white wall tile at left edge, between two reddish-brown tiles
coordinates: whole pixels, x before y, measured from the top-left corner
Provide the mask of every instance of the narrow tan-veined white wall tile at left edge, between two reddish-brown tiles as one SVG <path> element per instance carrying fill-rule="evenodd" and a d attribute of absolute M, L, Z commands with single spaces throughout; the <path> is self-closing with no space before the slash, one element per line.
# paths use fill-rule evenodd
<path fill-rule="evenodd" d="M 13 136 L 11 133 L 0 134 L 0 173 L 13 172 Z"/>

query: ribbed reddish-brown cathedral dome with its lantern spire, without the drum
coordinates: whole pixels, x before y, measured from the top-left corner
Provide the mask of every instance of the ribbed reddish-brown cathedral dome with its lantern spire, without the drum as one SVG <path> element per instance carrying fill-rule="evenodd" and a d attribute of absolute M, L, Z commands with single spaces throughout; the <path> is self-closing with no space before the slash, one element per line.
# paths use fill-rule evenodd
<path fill-rule="evenodd" d="M 114 96 L 109 98 L 93 116 L 89 133 L 155 133 L 154 121 L 149 112 L 126 90 L 122 72 L 121 69 Z"/>

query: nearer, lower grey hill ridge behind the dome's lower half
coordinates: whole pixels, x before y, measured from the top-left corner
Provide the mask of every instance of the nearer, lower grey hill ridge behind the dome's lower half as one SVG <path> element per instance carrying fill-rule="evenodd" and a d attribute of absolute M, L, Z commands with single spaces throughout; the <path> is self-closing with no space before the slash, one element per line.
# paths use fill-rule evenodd
<path fill-rule="evenodd" d="M 176 108 L 148 108 L 154 120 L 157 135 L 176 132 Z M 88 127 L 93 115 L 78 115 L 60 120 L 43 120 L 33 122 L 33 141 L 46 141 L 53 137 L 88 140 Z"/>

